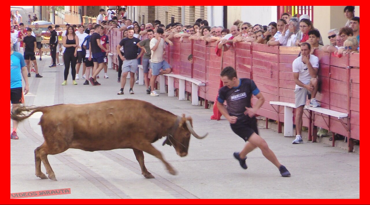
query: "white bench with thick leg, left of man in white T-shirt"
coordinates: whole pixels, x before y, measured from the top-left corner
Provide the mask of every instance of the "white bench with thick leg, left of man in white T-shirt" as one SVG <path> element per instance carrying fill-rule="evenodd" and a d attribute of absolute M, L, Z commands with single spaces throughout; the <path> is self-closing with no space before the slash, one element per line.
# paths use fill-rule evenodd
<path fill-rule="evenodd" d="M 270 101 L 270 105 L 284 106 L 284 137 L 293 137 L 293 108 L 296 108 L 295 103 L 280 102 L 280 101 Z M 275 107 L 274 107 L 275 109 Z M 304 109 L 307 109 L 305 106 Z M 279 111 L 275 109 L 279 115 Z M 280 122 L 280 120 L 278 120 Z M 281 133 L 281 124 L 279 123 L 279 133 Z"/>

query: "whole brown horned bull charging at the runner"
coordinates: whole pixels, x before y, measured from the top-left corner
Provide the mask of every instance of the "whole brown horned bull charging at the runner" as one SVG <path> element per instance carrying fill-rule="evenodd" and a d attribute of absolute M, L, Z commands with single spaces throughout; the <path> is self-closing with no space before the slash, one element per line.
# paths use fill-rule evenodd
<path fill-rule="evenodd" d="M 59 154 L 68 148 L 85 151 L 131 148 L 146 178 L 154 176 L 145 168 L 143 151 L 159 158 L 169 173 L 176 171 L 152 146 L 162 137 L 164 144 L 174 146 L 180 157 L 188 154 L 190 134 L 202 139 L 192 127 L 192 118 L 176 116 L 151 103 L 134 100 L 107 100 L 97 103 L 53 106 L 24 106 L 11 113 L 13 120 L 21 121 L 35 112 L 43 112 L 40 122 L 44 143 L 35 149 L 36 176 L 56 180 L 48 162 L 48 154 Z M 43 162 L 48 177 L 41 172 Z"/>

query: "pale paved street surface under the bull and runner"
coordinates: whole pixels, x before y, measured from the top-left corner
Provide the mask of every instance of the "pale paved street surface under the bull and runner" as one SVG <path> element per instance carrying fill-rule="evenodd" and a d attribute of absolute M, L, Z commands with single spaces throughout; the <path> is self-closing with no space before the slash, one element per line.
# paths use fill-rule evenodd
<path fill-rule="evenodd" d="M 140 99 L 176 115 L 185 113 L 193 118 L 196 133 L 205 139 L 192 137 L 189 154 L 176 155 L 173 147 L 162 146 L 164 139 L 153 145 L 178 171 L 169 174 L 157 158 L 144 153 L 145 165 L 155 179 L 141 175 L 139 164 L 130 149 L 87 152 L 69 149 L 48 160 L 58 181 L 41 180 L 35 175 L 34 149 L 44 139 L 39 122 L 41 112 L 19 124 L 19 140 L 10 140 L 11 193 L 71 188 L 71 194 L 35 198 L 359 198 L 359 154 L 322 143 L 292 144 L 292 138 L 274 130 L 260 127 L 260 135 L 285 165 L 292 177 L 283 178 L 279 170 L 262 155 L 259 149 L 248 154 L 248 169 L 243 170 L 232 156 L 240 151 L 244 141 L 230 129 L 225 118 L 210 120 L 211 109 L 192 106 L 190 101 L 160 94 L 152 97 L 145 86 L 135 84 L 129 95 L 129 80 L 125 95 L 120 89 L 117 72 L 108 69 L 110 78 L 100 73 L 101 86 L 83 85 L 84 79 L 62 86 L 64 66 L 49 68 L 51 57 L 43 56 L 37 63 L 43 78 L 29 79 L 30 92 L 25 105 L 84 104 L 109 99 Z M 82 76 L 82 66 L 80 78 Z M 159 93 L 159 90 L 157 90 Z M 11 122 L 11 120 L 10 120 Z M 140 123 L 140 122 L 138 122 Z M 143 129 L 150 124 L 143 124 Z M 11 131 L 11 130 L 10 130 Z M 107 133 L 109 134 L 109 133 Z M 102 136 L 104 137 L 104 136 Z M 41 170 L 45 173 L 44 165 Z"/>

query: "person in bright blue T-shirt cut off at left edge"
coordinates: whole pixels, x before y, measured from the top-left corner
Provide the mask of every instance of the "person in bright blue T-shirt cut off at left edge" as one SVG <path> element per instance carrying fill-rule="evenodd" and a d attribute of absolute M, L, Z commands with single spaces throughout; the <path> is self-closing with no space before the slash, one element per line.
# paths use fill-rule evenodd
<path fill-rule="evenodd" d="M 13 41 L 10 38 L 10 101 L 11 110 L 16 110 L 20 103 L 24 102 L 22 92 L 22 77 L 25 82 L 24 95 L 28 93 L 28 78 L 27 67 L 24 63 L 24 57 L 19 52 L 13 51 Z M 10 134 L 10 139 L 17 140 L 18 122 L 13 120 L 13 131 Z"/>

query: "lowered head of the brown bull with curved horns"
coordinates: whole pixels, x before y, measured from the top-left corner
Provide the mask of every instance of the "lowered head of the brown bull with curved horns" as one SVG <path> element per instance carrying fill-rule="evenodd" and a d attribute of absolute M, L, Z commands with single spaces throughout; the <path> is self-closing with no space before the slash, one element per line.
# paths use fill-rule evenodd
<path fill-rule="evenodd" d="M 190 134 L 198 139 L 203 139 L 208 135 L 208 133 L 206 133 L 204 136 L 199 136 L 196 134 L 193 130 L 192 118 L 185 117 L 185 114 L 182 114 L 182 117 L 177 117 L 173 130 L 174 131 L 170 131 L 167 139 L 163 142 L 163 145 L 173 145 L 177 155 L 180 157 L 185 157 L 188 155 Z"/>

